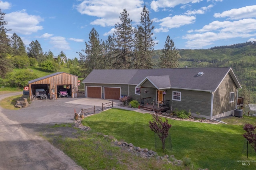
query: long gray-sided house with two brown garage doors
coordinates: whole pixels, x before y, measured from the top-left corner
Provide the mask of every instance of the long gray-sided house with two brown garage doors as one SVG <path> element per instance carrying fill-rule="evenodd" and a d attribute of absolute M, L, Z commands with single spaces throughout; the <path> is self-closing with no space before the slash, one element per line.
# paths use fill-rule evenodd
<path fill-rule="evenodd" d="M 210 119 L 232 115 L 242 88 L 230 67 L 93 70 L 82 83 L 88 98 L 131 96 L 143 109 L 190 110 Z"/>

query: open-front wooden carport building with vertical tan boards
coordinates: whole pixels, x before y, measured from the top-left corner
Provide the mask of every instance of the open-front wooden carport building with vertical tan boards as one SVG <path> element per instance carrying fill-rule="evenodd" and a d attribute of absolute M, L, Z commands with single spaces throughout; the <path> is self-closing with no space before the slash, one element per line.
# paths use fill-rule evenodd
<path fill-rule="evenodd" d="M 78 76 L 65 72 L 57 72 L 38 79 L 28 81 L 30 99 L 33 99 L 36 89 L 44 89 L 46 94 L 57 94 L 60 89 L 66 88 L 72 98 L 77 97 Z"/>

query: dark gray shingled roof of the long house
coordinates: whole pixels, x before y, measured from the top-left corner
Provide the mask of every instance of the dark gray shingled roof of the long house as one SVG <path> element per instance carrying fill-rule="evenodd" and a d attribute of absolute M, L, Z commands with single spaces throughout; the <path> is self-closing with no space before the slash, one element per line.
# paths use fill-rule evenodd
<path fill-rule="evenodd" d="M 199 76 L 199 72 L 204 74 Z M 93 70 L 82 83 L 140 86 L 148 79 L 158 89 L 171 87 L 173 89 L 216 91 L 228 73 L 236 86 L 242 88 L 230 67 Z"/>

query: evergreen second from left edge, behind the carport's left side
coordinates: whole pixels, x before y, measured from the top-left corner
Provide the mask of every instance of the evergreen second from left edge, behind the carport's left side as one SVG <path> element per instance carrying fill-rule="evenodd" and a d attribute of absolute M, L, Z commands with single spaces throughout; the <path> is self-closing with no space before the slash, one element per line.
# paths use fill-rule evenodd
<path fill-rule="evenodd" d="M 12 55 L 27 55 L 26 45 L 22 39 L 14 33 L 11 37 Z"/>

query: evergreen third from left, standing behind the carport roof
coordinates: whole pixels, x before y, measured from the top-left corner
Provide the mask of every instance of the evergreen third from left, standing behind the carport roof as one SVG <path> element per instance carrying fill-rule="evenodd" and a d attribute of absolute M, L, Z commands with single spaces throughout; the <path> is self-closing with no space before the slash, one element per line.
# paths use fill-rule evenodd
<path fill-rule="evenodd" d="M 28 47 L 28 57 L 35 58 L 38 63 L 46 60 L 44 56 L 43 49 L 41 48 L 41 44 L 36 40 L 35 42 L 32 41 Z"/>

